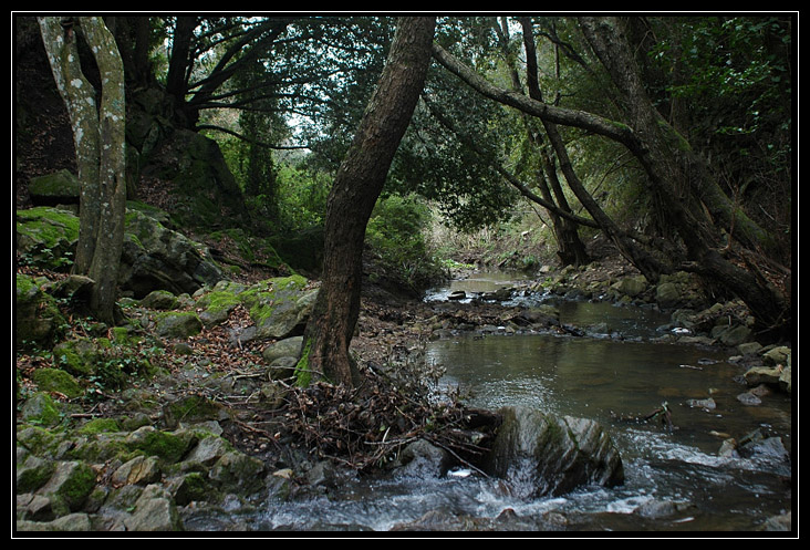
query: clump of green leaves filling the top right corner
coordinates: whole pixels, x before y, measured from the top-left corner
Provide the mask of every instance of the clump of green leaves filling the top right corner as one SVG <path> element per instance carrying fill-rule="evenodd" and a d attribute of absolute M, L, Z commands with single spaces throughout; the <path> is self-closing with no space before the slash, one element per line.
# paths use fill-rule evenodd
<path fill-rule="evenodd" d="M 668 75 L 661 82 L 666 94 L 688 105 L 693 134 L 705 132 L 735 156 L 760 154 L 785 168 L 792 124 L 790 23 L 778 15 L 678 22 L 648 55 Z"/>

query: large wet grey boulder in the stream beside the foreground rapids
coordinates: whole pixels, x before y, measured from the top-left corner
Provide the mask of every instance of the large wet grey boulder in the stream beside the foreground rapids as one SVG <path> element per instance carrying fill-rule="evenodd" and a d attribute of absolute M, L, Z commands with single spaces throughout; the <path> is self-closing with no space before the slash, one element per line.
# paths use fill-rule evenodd
<path fill-rule="evenodd" d="M 517 496 L 555 496 L 584 485 L 624 481 L 619 452 L 595 421 L 528 407 L 507 407 L 500 414 L 503 422 L 485 467 L 506 479 Z"/>

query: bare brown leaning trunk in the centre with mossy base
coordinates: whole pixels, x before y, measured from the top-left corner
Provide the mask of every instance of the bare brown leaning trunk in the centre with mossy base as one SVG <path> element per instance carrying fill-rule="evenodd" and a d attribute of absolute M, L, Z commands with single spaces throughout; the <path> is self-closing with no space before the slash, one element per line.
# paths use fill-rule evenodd
<path fill-rule="evenodd" d="M 366 224 L 407 128 L 430 63 L 435 18 L 402 18 L 388 60 L 326 206 L 323 278 L 307 325 L 299 384 L 312 375 L 354 385 L 349 345 L 360 315 Z"/>

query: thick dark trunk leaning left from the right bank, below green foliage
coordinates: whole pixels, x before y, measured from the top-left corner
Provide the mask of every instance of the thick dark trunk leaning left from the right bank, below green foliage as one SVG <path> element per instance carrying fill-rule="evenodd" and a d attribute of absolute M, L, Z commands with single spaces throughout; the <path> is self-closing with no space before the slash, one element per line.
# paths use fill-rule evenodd
<path fill-rule="evenodd" d="M 746 269 L 739 267 L 739 260 L 724 257 L 719 229 L 730 234 L 734 227 L 733 238 L 759 250 L 768 250 L 771 239 L 744 212 L 730 206 L 703 160 L 657 113 L 622 35 L 621 20 L 581 18 L 580 21 L 585 38 L 626 100 L 630 125 L 644 144 L 636 156 L 687 248 L 689 261 L 684 267 L 736 293 L 751 310 L 760 332 L 786 335 L 791 322 L 787 299 L 759 277 L 756 267 Z M 707 210 L 720 227 L 715 226 Z"/>

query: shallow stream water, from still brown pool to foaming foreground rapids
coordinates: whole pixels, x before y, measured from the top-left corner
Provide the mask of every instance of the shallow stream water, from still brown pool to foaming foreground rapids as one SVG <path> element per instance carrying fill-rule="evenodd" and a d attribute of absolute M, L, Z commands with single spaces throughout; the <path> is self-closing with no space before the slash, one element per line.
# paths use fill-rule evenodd
<path fill-rule="evenodd" d="M 484 273 L 426 299 L 510 283 L 507 276 Z M 586 336 L 459 334 L 430 342 L 427 361 L 444 365 L 440 383 L 469 394 L 472 406 L 528 405 L 601 422 L 622 456 L 623 485 L 527 500 L 502 481 L 465 469 L 438 479 L 352 479 L 329 497 L 268 502 L 250 518 L 251 528 L 388 531 L 414 521 L 425 528 L 426 515 L 434 515 L 485 518 L 498 530 L 507 510 L 519 518 L 508 528 L 519 530 L 728 532 L 756 530 L 791 509 L 790 461 L 778 450 L 748 458 L 718 454 L 724 438 L 756 429 L 781 436 L 789 452 L 788 396 L 772 392 L 759 405 L 744 405 L 736 396 L 747 388 L 734 380 L 741 367 L 727 362 L 728 351 L 656 341 L 668 316 L 653 309 L 551 303 L 561 323 L 592 330 Z M 709 397 L 714 408 L 692 401 Z M 672 411 L 673 432 L 627 419 L 663 403 Z"/>

